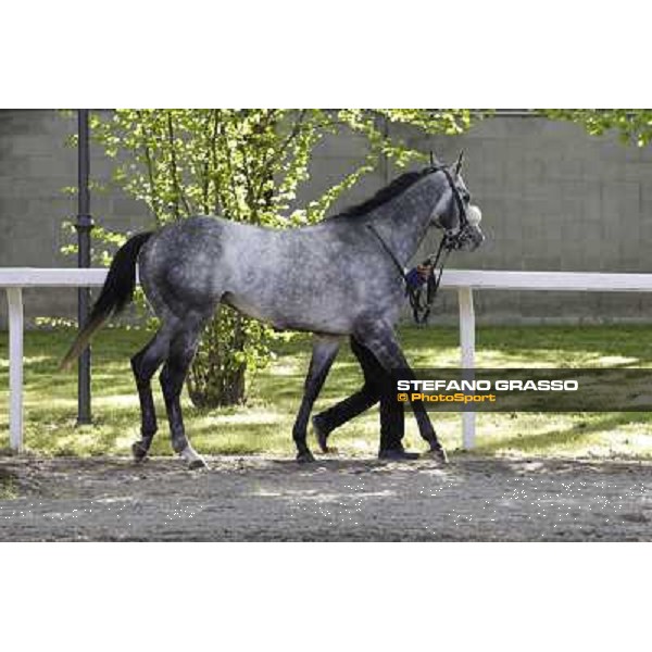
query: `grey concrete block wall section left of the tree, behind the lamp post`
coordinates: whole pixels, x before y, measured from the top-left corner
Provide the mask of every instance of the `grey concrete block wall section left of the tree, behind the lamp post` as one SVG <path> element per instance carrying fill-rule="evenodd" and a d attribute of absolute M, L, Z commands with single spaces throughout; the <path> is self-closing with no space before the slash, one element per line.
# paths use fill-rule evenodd
<path fill-rule="evenodd" d="M 61 253 L 71 242 L 62 227 L 74 222 L 77 199 L 63 188 L 77 184 L 77 153 L 65 147 L 77 129 L 76 116 L 60 111 L 0 110 L 0 267 L 74 267 L 76 259 Z M 111 180 L 111 162 L 91 146 L 91 178 Z M 91 191 L 96 223 L 113 229 L 151 224 L 147 208 L 111 187 Z M 39 316 L 74 317 L 76 290 L 25 291 L 27 325 Z M 0 290 L 0 328 L 7 327 L 5 292 Z"/>

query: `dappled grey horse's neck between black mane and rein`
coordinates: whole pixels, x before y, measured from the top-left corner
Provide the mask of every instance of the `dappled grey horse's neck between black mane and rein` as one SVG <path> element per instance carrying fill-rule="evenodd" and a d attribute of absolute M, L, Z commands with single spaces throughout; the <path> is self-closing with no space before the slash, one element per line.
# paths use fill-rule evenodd
<path fill-rule="evenodd" d="M 408 190 L 392 206 L 374 221 L 374 226 L 383 231 L 385 241 L 397 259 L 404 265 L 416 253 L 428 226 L 438 197 L 432 192 L 411 192 Z"/>

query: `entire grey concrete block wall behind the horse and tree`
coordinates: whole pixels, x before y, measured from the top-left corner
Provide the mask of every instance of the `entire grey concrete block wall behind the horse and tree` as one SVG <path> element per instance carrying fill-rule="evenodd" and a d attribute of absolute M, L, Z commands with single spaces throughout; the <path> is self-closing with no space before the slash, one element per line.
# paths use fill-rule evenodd
<path fill-rule="evenodd" d="M 76 152 L 64 147 L 75 129 L 75 117 L 57 111 L 0 111 L 0 266 L 74 266 L 60 249 L 66 238 L 61 223 L 76 212 L 76 199 L 61 190 L 76 184 Z M 451 267 L 652 272 L 652 148 L 624 147 L 615 137 L 522 115 L 498 115 L 455 137 L 400 135 L 443 160 L 466 152 L 464 176 L 482 208 L 488 240 L 478 252 L 455 254 Z M 364 153 L 364 141 L 352 134 L 326 138 L 299 201 L 340 180 Z M 106 183 L 110 172 L 111 162 L 92 148 L 92 178 Z M 394 174 L 380 161 L 334 210 L 367 198 Z M 146 206 L 114 187 L 93 192 L 91 209 L 98 223 L 113 229 L 151 226 Z M 435 248 L 432 235 L 419 256 Z M 7 324 L 3 294 L 0 327 Z M 73 316 L 75 300 L 73 290 L 32 290 L 28 322 Z M 482 292 L 476 301 L 486 323 L 652 318 L 651 298 L 641 294 Z M 455 318 L 456 299 L 443 292 L 434 321 Z"/>

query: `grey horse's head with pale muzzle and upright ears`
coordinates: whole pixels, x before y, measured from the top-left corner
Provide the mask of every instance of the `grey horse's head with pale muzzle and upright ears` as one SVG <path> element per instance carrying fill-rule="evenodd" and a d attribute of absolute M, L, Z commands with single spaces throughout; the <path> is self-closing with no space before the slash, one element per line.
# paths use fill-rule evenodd
<path fill-rule="evenodd" d="M 432 161 L 432 174 L 446 177 L 444 190 L 432 211 L 432 225 L 444 231 L 449 249 L 474 251 L 485 240 L 480 229 L 482 213 L 471 203 L 471 193 L 460 174 L 462 152 L 454 165 L 442 165 Z"/>

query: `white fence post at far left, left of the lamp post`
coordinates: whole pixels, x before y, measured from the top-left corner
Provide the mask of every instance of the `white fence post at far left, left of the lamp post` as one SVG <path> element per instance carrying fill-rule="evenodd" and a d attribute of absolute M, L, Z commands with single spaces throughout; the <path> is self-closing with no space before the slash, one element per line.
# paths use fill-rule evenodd
<path fill-rule="evenodd" d="M 23 290 L 7 288 L 9 304 L 9 446 L 23 450 Z"/>

